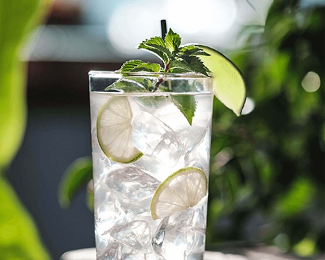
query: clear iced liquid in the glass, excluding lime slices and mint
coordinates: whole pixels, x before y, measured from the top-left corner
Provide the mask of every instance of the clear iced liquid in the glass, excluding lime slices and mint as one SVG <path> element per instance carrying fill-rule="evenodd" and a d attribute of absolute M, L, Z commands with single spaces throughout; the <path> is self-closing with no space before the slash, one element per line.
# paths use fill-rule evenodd
<path fill-rule="evenodd" d="M 126 94 L 134 145 L 144 153 L 131 164 L 108 159 L 98 144 L 97 114 L 110 96 L 90 93 L 97 259 L 203 259 L 208 194 L 158 220 L 150 202 L 160 182 L 180 168 L 196 166 L 208 178 L 213 94 L 194 95 L 192 125 L 167 96 Z"/>

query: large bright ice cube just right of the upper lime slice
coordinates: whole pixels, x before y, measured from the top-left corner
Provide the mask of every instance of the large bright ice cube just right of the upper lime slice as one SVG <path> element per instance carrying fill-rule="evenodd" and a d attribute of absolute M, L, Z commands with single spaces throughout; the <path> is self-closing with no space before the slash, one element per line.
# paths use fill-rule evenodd
<path fill-rule="evenodd" d="M 172 116 L 172 115 L 171 115 Z M 172 166 L 183 151 L 179 135 L 148 112 L 140 112 L 133 121 L 134 145 L 145 155 Z"/>

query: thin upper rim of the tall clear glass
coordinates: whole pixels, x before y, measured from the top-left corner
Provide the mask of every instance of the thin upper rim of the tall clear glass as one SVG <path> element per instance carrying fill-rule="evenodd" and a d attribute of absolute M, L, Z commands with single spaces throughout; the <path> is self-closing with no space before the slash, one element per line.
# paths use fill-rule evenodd
<path fill-rule="evenodd" d="M 167 77 L 167 78 L 213 78 L 212 75 L 206 76 L 202 73 L 188 72 L 188 73 L 163 73 L 163 72 L 148 72 L 148 71 L 138 71 L 138 72 L 127 72 L 122 73 L 121 71 L 97 71 L 91 70 L 88 72 L 89 76 L 94 77 L 109 77 L 109 76 L 146 76 L 146 77 Z"/>

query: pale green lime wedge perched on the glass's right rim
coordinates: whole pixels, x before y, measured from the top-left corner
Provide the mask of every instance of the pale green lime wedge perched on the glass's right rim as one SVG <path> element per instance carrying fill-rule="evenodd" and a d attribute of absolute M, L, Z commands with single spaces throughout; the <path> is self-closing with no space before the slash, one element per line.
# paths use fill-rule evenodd
<path fill-rule="evenodd" d="M 208 46 L 197 46 L 210 54 L 210 56 L 201 55 L 200 59 L 213 73 L 215 96 L 239 116 L 246 100 L 246 89 L 242 73 L 231 60 L 219 53 L 219 51 Z"/>

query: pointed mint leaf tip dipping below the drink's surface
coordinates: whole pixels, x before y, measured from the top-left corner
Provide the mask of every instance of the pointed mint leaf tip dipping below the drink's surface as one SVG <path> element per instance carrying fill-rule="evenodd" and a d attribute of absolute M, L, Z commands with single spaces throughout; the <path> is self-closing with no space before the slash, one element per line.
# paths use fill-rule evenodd
<path fill-rule="evenodd" d="M 194 116 L 194 112 L 197 108 L 197 102 L 195 101 L 195 97 L 192 95 L 173 95 L 169 96 L 174 105 L 178 107 L 185 118 L 188 120 L 188 123 L 192 125 L 192 120 Z"/>

